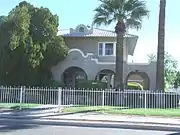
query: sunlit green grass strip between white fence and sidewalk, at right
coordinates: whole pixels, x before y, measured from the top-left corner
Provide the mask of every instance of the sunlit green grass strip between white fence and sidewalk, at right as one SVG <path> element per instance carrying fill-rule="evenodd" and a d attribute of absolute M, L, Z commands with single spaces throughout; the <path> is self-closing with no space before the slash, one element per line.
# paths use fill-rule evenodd
<path fill-rule="evenodd" d="M 179 109 L 144 109 L 144 108 L 125 108 L 125 107 L 111 107 L 111 106 L 79 106 L 79 107 L 68 107 L 62 110 L 63 112 L 69 113 L 80 113 L 80 112 L 103 112 L 106 114 L 123 114 L 123 115 L 149 115 L 149 116 L 166 116 L 166 117 L 180 117 Z"/>

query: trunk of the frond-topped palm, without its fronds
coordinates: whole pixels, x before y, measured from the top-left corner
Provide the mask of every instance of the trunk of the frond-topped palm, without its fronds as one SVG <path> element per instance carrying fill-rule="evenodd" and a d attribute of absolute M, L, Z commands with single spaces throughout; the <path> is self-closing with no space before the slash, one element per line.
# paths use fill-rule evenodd
<path fill-rule="evenodd" d="M 115 88 L 124 90 L 124 32 L 125 25 L 123 21 L 118 21 L 115 27 L 116 37 L 116 73 L 115 73 Z"/>

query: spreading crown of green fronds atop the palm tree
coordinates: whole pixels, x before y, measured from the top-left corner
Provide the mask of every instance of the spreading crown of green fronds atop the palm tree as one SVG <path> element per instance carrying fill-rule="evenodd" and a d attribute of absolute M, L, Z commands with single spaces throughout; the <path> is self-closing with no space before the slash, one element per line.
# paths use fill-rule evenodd
<path fill-rule="evenodd" d="M 99 0 L 100 6 L 94 11 L 93 24 L 109 25 L 112 22 L 124 21 L 127 28 L 140 29 L 142 20 L 149 15 L 146 3 L 142 0 Z M 134 25 L 134 26 L 133 26 Z"/>

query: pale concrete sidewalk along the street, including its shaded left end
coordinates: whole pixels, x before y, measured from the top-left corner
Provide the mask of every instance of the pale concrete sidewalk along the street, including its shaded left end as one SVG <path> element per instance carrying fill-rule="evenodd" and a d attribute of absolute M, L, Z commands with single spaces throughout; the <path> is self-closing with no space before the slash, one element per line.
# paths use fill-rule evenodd
<path fill-rule="evenodd" d="M 107 115 L 100 113 L 76 113 L 61 114 L 57 112 L 57 108 L 24 111 L 24 112 L 6 112 L 0 113 L 0 118 L 12 119 L 45 119 L 45 120 L 65 120 L 65 121 L 86 121 L 86 122 L 112 122 L 112 123 L 139 123 L 139 124 L 164 124 L 178 125 L 180 127 L 180 118 L 163 118 L 152 116 L 125 116 L 125 115 Z"/>

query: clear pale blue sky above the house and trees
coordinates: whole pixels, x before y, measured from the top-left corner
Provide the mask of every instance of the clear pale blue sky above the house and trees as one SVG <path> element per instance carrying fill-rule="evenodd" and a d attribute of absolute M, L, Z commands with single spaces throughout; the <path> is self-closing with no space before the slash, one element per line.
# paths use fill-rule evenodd
<path fill-rule="evenodd" d="M 8 12 L 22 0 L 5 0 L 0 4 L 0 15 L 7 15 Z M 59 28 L 75 28 L 78 24 L 91 25 L 98 5 L 98 0 L 27 0 L 35 6 L 47 7 L 53 14 L 59 16 Z M 147 62 L 147 54 L 157 52 L 158 13 L 159 0 L 145 0 L 150 11 L 149 18 L 143 20 L 142 29 L 139 31 L 129 30 L 130 34 L 139 36 L 134 56 L 134 62 Z M 165 50 L 180 62 L 180 0 L 167 0 L 166 4 L 166 29 L 165 29 Z M 178 11 L 178 12 L 177 12 Z M 180 12 L 179 12 L 180 13 Z M 114 30 L 115 24 L 101 26 L 101 28 Z"/>

